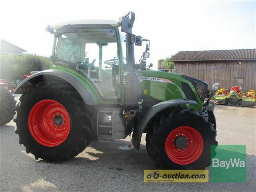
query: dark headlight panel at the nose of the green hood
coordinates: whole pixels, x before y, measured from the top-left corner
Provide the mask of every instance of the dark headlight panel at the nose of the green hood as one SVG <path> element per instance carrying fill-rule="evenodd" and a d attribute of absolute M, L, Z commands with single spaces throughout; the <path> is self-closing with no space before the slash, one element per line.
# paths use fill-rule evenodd
<path fill-rule="evenodd" d="M 201 101 L 204 101 L 206 91 L 208 88 L 208 83 L 206 83 L 204 81 L 200 81 L 193 77 L 185 76 L 185 75 L 182 75 L 182 77 L 192 83 L 192 85 L 195 87 L 196 92 L 199 95 Z"/>

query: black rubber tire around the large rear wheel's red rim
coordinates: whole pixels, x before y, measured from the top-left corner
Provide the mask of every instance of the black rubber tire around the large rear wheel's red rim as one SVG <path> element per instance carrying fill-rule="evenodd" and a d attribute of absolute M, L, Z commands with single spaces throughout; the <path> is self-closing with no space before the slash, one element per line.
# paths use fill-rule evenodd
<path fill-rule="evenodd" d="M 55 100 L 67 110 L 70 117 L 70 132 L 64 142 L 58 146 L 47 147 L 38 143 L 31 135 L 28 127 L 28 116 L 31 108 L 41 100 Z M 92 110 L 85 105 L 81 96 L 69 85 L 44 83 L 27 90 L 20 97 L 15 119 L 19 134 L 19 143 L 23 144 L 27 153 L 36 159 L 44 159 L 47 163 L 68 160 L 82 152 L 91 142 L 94 134 Z"/>

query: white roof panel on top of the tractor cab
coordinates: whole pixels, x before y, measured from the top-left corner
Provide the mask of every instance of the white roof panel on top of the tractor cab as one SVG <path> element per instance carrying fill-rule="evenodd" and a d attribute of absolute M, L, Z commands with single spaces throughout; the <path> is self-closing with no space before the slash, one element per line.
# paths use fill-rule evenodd
<path fill-rule="evenodd" d="M 55 24 L 51 26 L 53 29 L 59 29 L 63 26 L 68 25 L 111 25 L 113 27 L 118 26 L 118 23 L 115 20 L 74 20 L 74 21 L 66 21 L 62 23 Z"/>

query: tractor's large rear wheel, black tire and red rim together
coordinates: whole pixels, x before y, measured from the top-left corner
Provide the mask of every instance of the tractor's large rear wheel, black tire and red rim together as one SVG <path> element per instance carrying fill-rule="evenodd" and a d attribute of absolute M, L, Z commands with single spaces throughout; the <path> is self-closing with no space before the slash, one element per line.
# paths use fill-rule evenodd
<path fill-rule="evenodd" d="M 91 109 L 72 86 L 39 84 L 20 97 L 15 132 L 27 153 L 60 162 L 78 155 L 91 142 L 89 114 Z"/>

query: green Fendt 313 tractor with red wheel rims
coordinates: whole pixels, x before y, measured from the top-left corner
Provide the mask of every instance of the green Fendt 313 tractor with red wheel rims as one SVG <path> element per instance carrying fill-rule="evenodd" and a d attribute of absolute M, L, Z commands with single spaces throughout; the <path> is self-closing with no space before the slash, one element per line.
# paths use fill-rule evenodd
<path fill-rule="evenodd" d="M 148 155 L 157 166 L 210 165 L 217 141 L 214 103 L 204 102 L 208 84 L 150 70 L 150 41 L 132 34 L 134 20 L 128 12 L 120 22 L 80 20 L 46 28 L 54 34 L 51 69 L 28 77 L 15 91 L 22 94 L 15 133 L 27 153 L 60 162 L 78 155 L 92 139 L 131 134 L 139 150 L 147 133 Z M 143 42 L 145 52 L 135 64 L 134 45 Z"/>

